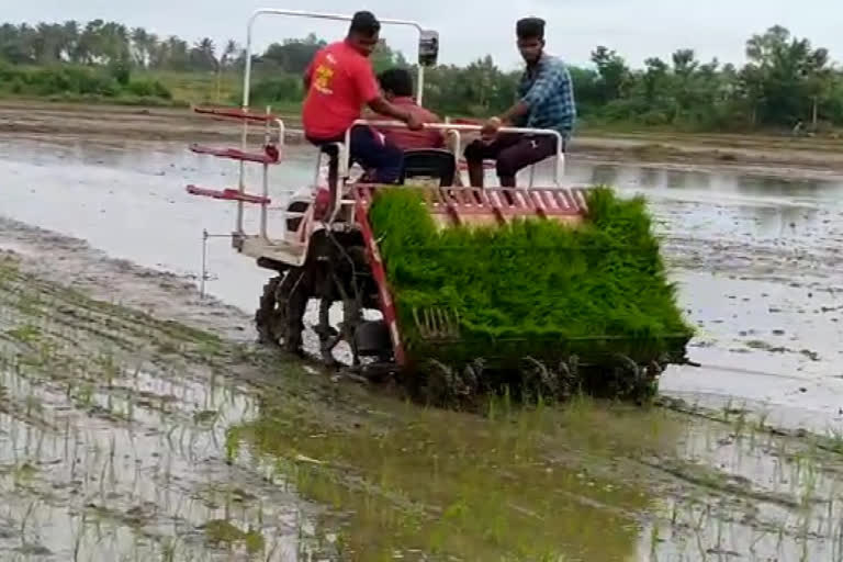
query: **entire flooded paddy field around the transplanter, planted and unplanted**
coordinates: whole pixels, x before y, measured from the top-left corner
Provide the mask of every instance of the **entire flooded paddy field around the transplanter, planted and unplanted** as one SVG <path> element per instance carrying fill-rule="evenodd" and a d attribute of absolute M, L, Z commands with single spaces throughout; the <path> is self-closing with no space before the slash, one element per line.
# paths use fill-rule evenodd
<path fill-rule="evenodd" d="M 291 151 L 281 200 L 312 177 Z M 256 348 L 268 273 L 179 144 L 0 139 L 0 559 L 843 560 L 843 178 L 578 162 L 649 196 L 664 407 L 419 407 Z M 801 429 L 799 429 L 801 428 Z"/>

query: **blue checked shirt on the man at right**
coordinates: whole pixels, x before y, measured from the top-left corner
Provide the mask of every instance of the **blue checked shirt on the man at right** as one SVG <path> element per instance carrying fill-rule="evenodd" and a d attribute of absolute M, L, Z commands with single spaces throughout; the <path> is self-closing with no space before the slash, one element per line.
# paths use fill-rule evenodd
<path fill-rule="evenodd" d="M 552 128 L 565 138 L 571 136 L 576 120 L 574 83 L 560 58 L 543 54 L 532 76 L 529 69 L 525 70 L 518 98 L 530 108 L 518 126 Z"/>

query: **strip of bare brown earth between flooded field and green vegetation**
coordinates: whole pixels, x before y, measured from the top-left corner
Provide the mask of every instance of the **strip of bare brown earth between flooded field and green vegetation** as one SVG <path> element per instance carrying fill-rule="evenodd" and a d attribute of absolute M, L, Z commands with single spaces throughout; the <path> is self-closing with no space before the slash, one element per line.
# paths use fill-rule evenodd
<path fill-rule="evenodd" d="M 288 142 L 301 143 L 297 115 L 284 116 Z M 137 142 L 237 142 L 231 122 L 201 117 L 189 109 L 139 109 L 0 100 L 0 134 Z M 595 161 L 678 162 L 757 168 L 766 172 L 839 172 L 843 140 L 763 135 L 618 133 L 577 135 L 574 158 Z"/>

